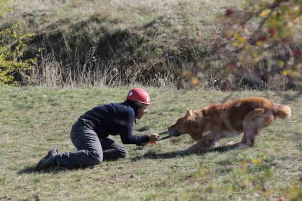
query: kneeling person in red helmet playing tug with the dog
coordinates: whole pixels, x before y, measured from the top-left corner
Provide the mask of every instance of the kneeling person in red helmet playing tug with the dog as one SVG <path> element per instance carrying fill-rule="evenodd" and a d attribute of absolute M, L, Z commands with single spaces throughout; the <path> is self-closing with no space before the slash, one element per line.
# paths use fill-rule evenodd
<path fill-rule="evenodd" d="M 126 157 L 126 148 L 108 138 L 120 135 L 123 144 L 155 144 L 158 134 L 133 135 L 133 124 L 148 113 L 151 104 L 149 94 L 140 88 L 131 89 L 123 103 L 110 103 L 98 106 L 83 115 L 71 129 L 71 140 L 77 151 L 59 153 L 50 149 L 36 169 L 43 170 L 51 166 L 74 168 L 98 165 L 102 160 L 114 160 Z"/>

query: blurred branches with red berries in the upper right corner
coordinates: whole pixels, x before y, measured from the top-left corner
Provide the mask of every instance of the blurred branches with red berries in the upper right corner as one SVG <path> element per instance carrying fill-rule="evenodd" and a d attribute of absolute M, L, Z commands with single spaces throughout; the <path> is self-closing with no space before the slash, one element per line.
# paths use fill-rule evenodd
<path fill-rule="evenodd" d="M 222 31 L 213 33 L 212 41 L 204 42 L 218 51 L 195 69 L 192 84 L 199 87 L 197 79 L 202 80 L 204 75 L 198 72 L 222 57 L 216 73 L 228 81 L 237 76 L 264 88 L 269 79 L 279 82 L 282 77 L 280 85 L 285 89 L 301 90 L 301 14 L 302 0 L 246 0 L 242 10 L 226 8 L 221 16 Z M 231 84 L 222 83 L 222 89 L 236 87 Z"/>

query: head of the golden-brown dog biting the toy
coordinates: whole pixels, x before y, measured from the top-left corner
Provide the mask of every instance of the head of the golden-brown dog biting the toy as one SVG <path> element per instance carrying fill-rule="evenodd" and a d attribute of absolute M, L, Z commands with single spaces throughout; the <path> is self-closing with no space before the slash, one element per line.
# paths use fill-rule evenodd
<path fill-rule="evenodd" d="M 190 130 L 192 121 L 193 121 L 192 111 L 187 110 L 185 115 L 179 117 L 175 124 L 168 127 L 168 131 L 174 131 L 172 135 L 174 137 L 178 137 L 181 134 L 187 134 Z"/>

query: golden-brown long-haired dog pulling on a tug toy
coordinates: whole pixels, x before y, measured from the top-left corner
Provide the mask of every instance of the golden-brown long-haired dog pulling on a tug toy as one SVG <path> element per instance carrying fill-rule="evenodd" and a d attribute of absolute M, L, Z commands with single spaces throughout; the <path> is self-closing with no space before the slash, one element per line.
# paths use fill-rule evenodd
<path fill-rule="evenodd" d="M 276 117 L 284 119 L 290 115 L 291 109 L 288 106 L 273 103 L 265 98 L 249 97 L 210 105 L 197 111 L 187 110 L 185 115 L 177 119 L 176 124 L 168 127 L 168 131 L 174 131 L 173 136 L 189 134 L 197 141 L 186 150 L 176 151 L 178 154 L 206 150 L 222 138 L 238 136 L 241 133 L 242 140 L 231 146 L 243 149 L 252 147 L 255 136 L 272 124 Z"/>

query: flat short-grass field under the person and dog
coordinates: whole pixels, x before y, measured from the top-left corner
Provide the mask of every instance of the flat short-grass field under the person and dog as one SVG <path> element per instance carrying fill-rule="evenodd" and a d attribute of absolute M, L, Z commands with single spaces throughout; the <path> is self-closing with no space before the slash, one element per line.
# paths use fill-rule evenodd
<path fill-rule="evenodd" d="M 157 145 L 126 145 L 129 156 L 75 170 L 33 167 L 50 148 L 75 150 L 69 134 L 79 115 L 100 104 L 122 102 L 130 87 L 90 89 L 0 88 L 0 200 L 301 200 L 302 97 L 293 91 L 147 88 L 152 105 L 134 134 L 159 133 L 186 109 L 260 96 L 292 109 L 246 150 L 223 139 L 200 154 L 178 156 L 193 141 L 184 135 Z M 121 142 L 118 136 L 112 137 Z"/>

